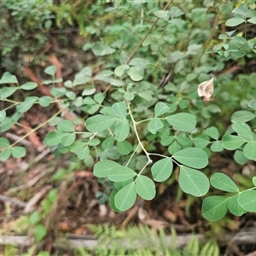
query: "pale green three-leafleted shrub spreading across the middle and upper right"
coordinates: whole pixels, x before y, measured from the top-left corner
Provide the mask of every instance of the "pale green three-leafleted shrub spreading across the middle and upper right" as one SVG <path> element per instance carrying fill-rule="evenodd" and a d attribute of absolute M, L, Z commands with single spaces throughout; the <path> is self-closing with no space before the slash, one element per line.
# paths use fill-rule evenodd
<path fill-rule="evenodd" d="M 47 123 L 54 126 L 44 144 L 55 148 L 55 154 L 72 153 L 73 160 L 93 166 L 96 177 L 111 181 L 109 203 L 115 211 L 131 208 L 137 196 L 152 200 L 155 184 L 165 182 L 178 166 L 183 192 L 205 196 L 210 185 L 224 191 L 224 195 L 204 198 L 202 215 L 208 220 L 223 218 L 228 209 L 236 216 L 255 212 L 255 177 L 255 187 L 240 191 L 224 173 L 211 177 L 204 173 L 208 158 L 224 149 L 233 151 L 241 165 L 256 160 L 255 88 L 248 93 L 249 89 L 240 90 L 239 83 L 239 79 L 247 79 L 249 88 L 255 74 L 233 81 L 222 73 L 225 61 L 242 63 L 255 56 L 255 38 L 247 38 L 247 27 L 256 23 L 255 3 L 170 1 L 164 6 L 161 1 L 100 2 L 91 8 L 101 9 L 102 16 L 114 20 L 113 24 L 92 22 L 83 29 L 99 38 L 84 44 L 84 54 L 91 51 L 98 57 L 101 72 L 84 67 L 60 88 L 55 86 L 61 82 L 55 79 L 56 68 L 47 67 L 49 80 L 40 86 L 50 86 L 51 96 L 33 96 L 38 84 L 20 84 L 15 75 L 4 73 L 0 80 L 0 99 L 5 106 L 0 111 L 1 132 L 17 125 L 35 104 L 43 108 L 55 104 L 59 111 L 32 131 Z M 57 17 L 61 22 L 61 10 Z M 244 25 L 243 31 L 240 25 Z M 224 29 L 219 34 L 221 26 Z M 212 79 L 215 72 L 220 74 Z M 20 91 L 23 99 L 15 101 Z M 227 129 L 221 118 L 234 109 Z M 67 111 L 77 117 L 66 119 Z M 0 159 L 25 156 L 20 140 L 10 143 L 1 137 Z"/>

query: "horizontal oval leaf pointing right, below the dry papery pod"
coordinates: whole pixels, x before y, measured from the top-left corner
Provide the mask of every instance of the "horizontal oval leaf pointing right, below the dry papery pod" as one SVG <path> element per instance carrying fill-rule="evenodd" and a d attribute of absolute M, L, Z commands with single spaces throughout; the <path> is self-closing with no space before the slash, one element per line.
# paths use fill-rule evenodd
<path fill-rule="evenodd" d="M 193 131 L 196 125 L 195 116 L 190 113 L 172 114 L 166 120 L 177 131 Z"/>

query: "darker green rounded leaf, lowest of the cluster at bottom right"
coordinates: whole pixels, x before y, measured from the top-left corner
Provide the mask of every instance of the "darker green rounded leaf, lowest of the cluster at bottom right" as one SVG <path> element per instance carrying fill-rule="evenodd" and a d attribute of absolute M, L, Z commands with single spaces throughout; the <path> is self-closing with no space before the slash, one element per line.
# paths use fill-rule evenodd
<path fill-rule="evenodd" d="M 212 195 L 202 202 L 201 213 L 209 221 L 217 221 L 224 217 L 230 203 L 230 197 Z"/>

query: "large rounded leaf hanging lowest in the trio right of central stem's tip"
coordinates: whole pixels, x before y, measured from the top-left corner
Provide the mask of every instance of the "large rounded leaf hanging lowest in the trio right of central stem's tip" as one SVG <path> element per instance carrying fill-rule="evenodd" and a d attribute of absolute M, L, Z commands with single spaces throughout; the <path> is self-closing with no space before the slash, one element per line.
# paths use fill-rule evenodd
<path fill-rule="evenodd" d="M 180 166 L 178 183 L 185 193 L 194 196 L 206 195 L 210 188 L 209 180 L 203 172 L 186 166 Z"/>

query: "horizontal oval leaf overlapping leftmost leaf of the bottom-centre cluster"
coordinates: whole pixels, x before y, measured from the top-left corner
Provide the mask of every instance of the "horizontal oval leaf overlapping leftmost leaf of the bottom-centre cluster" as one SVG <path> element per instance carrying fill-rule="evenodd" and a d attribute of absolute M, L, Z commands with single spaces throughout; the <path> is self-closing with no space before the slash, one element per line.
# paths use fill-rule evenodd
<path fill-rule="evenodd" d="M 131 170 L 129 167 L 117 166 L 117 167 L 113 167 L 113 169 L 111 169 L 108 172 L 108 179 L 113 182 L 122 182 L 127 179 L 131 179 L 136 175 L 137 173 Z"/>

